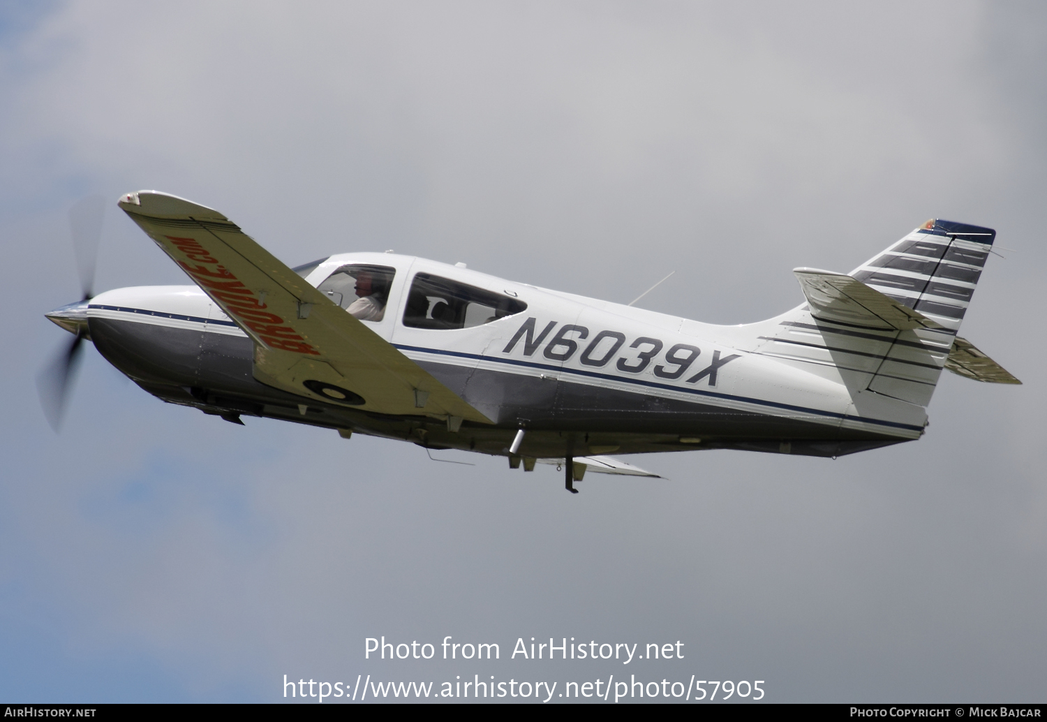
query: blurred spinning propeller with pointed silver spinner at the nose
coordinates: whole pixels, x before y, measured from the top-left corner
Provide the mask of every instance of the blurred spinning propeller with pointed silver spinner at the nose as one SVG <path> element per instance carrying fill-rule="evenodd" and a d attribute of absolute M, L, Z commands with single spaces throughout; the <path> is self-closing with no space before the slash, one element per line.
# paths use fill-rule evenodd
<path fill-rule="evenodd" d="M 73 254 L 76 257 L 76 271 L 83 297 L 76 303 L 57 308 L 47 318 L 74 334 L 37 376 L 37 390 L 44 416 L 55 432 L 62 424 L 62 414 L 72 389 L 83 352 L 85 340 L 90 340 L 87 327 L 87 304 L 94 285 L 94 267 L 98 257 L 98 242 L 102 240 L 102 219 L 106 212 L 106 201 L 101 196 L 84 198 L 69 210 L 69 226 L 72 233 Z"/>

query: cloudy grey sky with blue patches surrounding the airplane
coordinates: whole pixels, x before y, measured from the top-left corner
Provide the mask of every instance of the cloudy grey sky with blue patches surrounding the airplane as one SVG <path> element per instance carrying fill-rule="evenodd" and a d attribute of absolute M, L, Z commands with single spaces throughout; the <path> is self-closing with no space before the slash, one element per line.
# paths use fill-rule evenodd
<path fill-rule="evenodd" d="M 634 675 L 1042 702 L 1045 38 L 1037 2 L 3 3 L 0 699 Z M 621 303 L 675 270 L 640 305 L 723 324 L 801 303 L 795 267 L 986 225 L 961 333 L 1024 385 L 944 373 L 917 442 L 630 457 L 666 479 L 577 496 L 164 404 L 93 347 L 55 434 L 34 378 L 80 298 L 69 207 L 110 199 L 96 291 L 187 283 L 116 207 L 139 189 L 289 265 L 392 248 Z M 448 635 L 500 658 L 440 659 Z M 437 656 L 365 659 L 381 636 Z M 684 658 L 510 658 L 531 637 Z"/>

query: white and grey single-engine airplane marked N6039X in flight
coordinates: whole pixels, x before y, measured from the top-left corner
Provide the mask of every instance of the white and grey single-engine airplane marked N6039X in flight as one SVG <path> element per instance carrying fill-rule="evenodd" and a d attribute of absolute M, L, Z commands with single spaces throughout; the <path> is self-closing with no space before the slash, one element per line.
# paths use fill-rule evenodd
<path fill-rule="evenodd" d="M 88 288 L 47 313 L 76 336 L 60 396 L 90 340 L 149 393 L 226 421 L 556 463 L 574 493 L 586 469 L 655 476 L 616 452 L 917 439 L 943 368 L 1021 382 L 957 335 L 996 237 L 976 225 L 930 220 L 850 274 L 796 268 L 803 304 L 717 326 L 393 253 L 291 268 L 213 209 L 118 204 L 194 285 Z"/>

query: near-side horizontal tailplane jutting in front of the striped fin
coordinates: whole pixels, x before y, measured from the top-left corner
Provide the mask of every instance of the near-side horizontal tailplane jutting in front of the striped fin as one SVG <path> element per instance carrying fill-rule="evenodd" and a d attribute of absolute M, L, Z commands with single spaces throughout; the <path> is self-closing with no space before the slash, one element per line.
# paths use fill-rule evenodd
<path fill-rule="evenodd" d="M 864 326 L 886 325 L 900 331 L 941 328 L 919 311 L 903 306 L 850 276 L 817 268 L 794 268 L 793 272 L 816 316 Z"/>

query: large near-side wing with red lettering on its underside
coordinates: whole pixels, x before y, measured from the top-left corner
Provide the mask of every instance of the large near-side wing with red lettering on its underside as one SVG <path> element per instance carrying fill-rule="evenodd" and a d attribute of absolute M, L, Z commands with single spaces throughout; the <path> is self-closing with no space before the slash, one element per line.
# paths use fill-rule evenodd
<path fill-rule="evenodd" d="M 211 209 L 155 191 L 119 206 L 254 341 L 254 377 L 392 415 L 492 421 Z"/>

